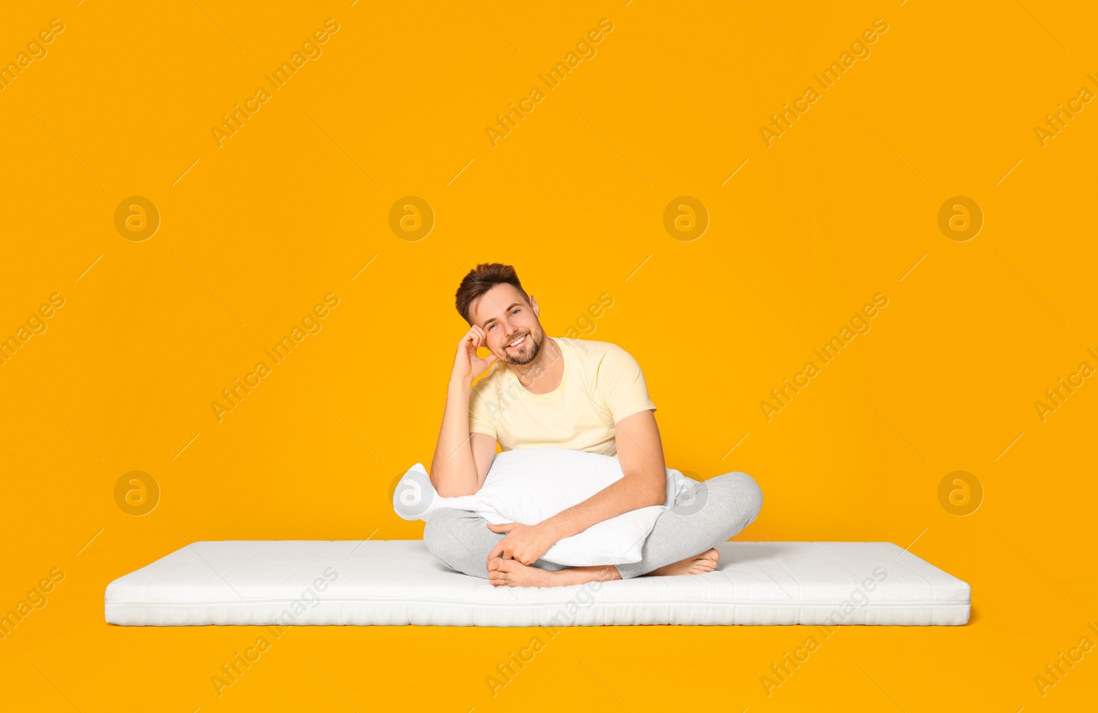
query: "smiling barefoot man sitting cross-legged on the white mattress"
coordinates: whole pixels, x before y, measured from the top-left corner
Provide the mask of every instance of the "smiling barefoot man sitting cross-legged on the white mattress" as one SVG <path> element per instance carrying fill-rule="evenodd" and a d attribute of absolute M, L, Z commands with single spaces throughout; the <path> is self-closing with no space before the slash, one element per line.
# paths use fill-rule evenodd
<path fill-rule="evenodd" d="M 449 567 L 496 587 L 557 587 L 713 571 L 718 543 L 759 515 L 762 491 L 743 472 L 695 486 L 662 512 L 639 562 L 567 567 L 541 556 L 559 539 L 621 513 L 666 503 L 663 445 L 640 366 L 607 342 L 552 338 L 515 269 L 481 264 L 461 281 L 457 308 L 470 328 L 458 344 L 430 479 L 444 498 L 480 490 L 504 450 L 556 446 L 617 456 L 624 477 L 536 525 L 489 524 L 444 508 L 424 528 L 427 548 Z M 491 353 L 477 354 L 479 347 Z M 475 388 L 472 380 L 492 371 Z M 695 481 L 696 482 L 696 481 Z"/>

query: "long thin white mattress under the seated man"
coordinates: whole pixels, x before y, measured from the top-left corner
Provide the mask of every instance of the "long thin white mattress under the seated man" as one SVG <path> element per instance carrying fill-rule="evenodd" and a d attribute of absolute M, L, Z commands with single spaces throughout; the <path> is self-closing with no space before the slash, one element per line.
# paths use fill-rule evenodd
<path fill-rule="evenodd" d="M 419 539 L 188 545 L 107 587 L 125 626 L 960 625 L 970 588 L 892 543 L 727 542 L 713 572 L 493 587 Z"/>

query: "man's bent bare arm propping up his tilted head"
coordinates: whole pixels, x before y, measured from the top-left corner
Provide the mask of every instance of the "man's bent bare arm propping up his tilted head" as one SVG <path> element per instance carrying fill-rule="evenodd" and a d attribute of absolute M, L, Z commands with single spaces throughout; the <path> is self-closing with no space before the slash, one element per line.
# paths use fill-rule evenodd
<path fill-rule="evenodd" d="M 477 347 L 483 343 L 484 332 L 475 325 L 458 343 L 442 426 L 430 461 L 430 480 L 442 498 L 471 495 L 480 490 L 495 457 L 495 438 L 469 433 L 469 390 L 473 376 L 495 361 L 495 355 L 484 359 L 477 356 Z"/>

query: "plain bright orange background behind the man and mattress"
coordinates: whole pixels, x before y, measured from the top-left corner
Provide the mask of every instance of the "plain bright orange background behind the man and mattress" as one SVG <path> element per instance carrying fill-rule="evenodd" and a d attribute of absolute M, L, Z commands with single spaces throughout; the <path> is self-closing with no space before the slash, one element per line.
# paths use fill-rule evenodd
<path fill-rule="evenodd" d="M 4 64 L 65 24 L 0 91 L 0 334 L 65 299 L 0 366 L 0 612 L 65 572 L 0 642 L 4 708 L 1094 701 L 1098 653 L 1044 697 L 1034 677 L 1098 622 L 1098 386 L 1043 422 L 1033 405 L 1098 366 L 1098 105 L 1044 146 L 1034 132 L 1098 92 L 1093 8 L 66 0 L 3 15 Z M 329 18 L 323 54 L 219 147 L 222 114 Z M 538 75 L 604 18 L 597 54 L 548 90 Z M 822 90 L 813 75 L 878 18 L 872 54 Z M 493 147 L 486 126 L 536 86 L 545 100 Z M 768 147 L 760 126 L 811 86 L 821 98 Z M 135 196 L 160 213 L 139 242 L 114 221 Z M 417 241 L 389 224 L 408 196 L 435 216 Z M 684 196 L 709 214 L 696 239 L 664 227 Z M 957 196 L 983 210 L 975 237 L 939 226 Z M 738 539 L 911 544 L 972 584 L 971 623 L 843 627 L 770 697 L 760 677 L 814 630 L 575 627 L 494 698 L 485 677 L 544 632 L 295 627 L 219 697 L 211 677 L 264 630 L 104 623 L 108 582 L 188 542 L 421 537 L 389 488 L 430 461 L 467 328 L 453 292 L 480 261 L 517 267 L 553 336 L 613 297 L 585 338 L 640 361 L 668 464 L 762 486 Z M 872 330 L 768 422 L 770 390 L 878 292 Z M 322 331 L 219 422 L 221 390 L 328 293 Z M 133 470 L 161 491 L 144 516 L 114 497 Z M 956 470 L 985 492 L 967 516 L 938 495 Z"/>

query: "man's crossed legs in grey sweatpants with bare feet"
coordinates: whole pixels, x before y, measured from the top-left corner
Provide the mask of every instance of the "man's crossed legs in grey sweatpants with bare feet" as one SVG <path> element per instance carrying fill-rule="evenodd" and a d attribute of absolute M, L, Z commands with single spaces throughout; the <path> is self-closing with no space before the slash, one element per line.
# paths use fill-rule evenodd
<path fill-rule="evenodd" d="M 761 508 L 762 491 L 744 472 L 697 482 L 688 498 L 657 519 L 645 539 L 640 561 L 625 565 L 568 567 L 544 559 L 523 565 L 495 558 L 489 567 L 488 554 L 505 535 L 489 530 L 480 515 L 450 508 L 430 515 L 423 538 L 427 549 L 448 567 L 493 584 L 556 587 L 642 575 L 694 575 L 715 569 L 719 555 L 714 547 L 754 522 Z"/>

